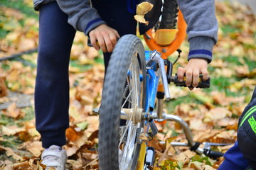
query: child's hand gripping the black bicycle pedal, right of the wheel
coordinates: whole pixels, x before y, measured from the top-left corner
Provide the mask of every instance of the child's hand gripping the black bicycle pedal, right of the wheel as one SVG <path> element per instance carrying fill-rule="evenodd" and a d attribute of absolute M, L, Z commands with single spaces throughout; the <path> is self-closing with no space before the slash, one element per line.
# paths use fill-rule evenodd
<path fill-rule="evenodd" d="M 193 58 L 188 61 L 185 68 L 178 67 L 178 81 L 183 81 L 184 74 L 186 74 L 186 86 L 196 87 L 199 82 L 199 74 L 203 75 L 203 80 L 206 81 L 208 77 L 208 62 L 205 59 Z M 193 88 L 189 88 L 193 90 Z"/>

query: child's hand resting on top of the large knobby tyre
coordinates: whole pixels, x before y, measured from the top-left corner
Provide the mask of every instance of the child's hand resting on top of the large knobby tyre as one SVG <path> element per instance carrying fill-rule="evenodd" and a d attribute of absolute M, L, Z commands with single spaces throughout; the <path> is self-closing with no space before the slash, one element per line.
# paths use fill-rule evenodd
<path fill-rule="evenodd" d="M 102 52 L 112 52 L 114 45 L 117 44 L 117 38 L 120 38 L 117 30 L 105 24 L 91 30 L 89 36 L 92 46 L 95 47 L 96 50 L 101 49 Z"/>

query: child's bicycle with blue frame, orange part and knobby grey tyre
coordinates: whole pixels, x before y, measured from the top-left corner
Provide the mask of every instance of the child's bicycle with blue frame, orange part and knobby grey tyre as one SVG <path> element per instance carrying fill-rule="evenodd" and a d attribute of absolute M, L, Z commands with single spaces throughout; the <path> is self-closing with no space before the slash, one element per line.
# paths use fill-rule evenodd
<path fill-rule="evenodd" d="M 159 42 L 151 36 L 152 30 L 149 30 L 144 34 L 144 40 L 151 49 L 156 49 L 153 52 L 145 51 L 142 41 L 136 35 L 124 35 L 114 47 L 105 75 L 102 103 L 100 108 L 94 110 L 100 114 L 100 169 L 148 169 L 147 166 L 154 163 L 154 151 L 146 147 L 146 142 L 152 140 L 158 132 L 154 120 L 171 120 L 181 125 L 188 143 L 171 142 L 171 145 L 188 146 L 196 153 L 212 158 L 223 156 L 221 152 L 212 151 L 210 146 L 224 144 L 206 142 L 201 149 L 201 144 L 193 141 L 188 125 L 181 118 L 163 112 L 164 98 L 166 101 L 171 98 L 168 84 L 173 82 L 177 86 L 186 86 L 185 81 L 180 82 L 176 75 L 172 75 L 173 64 L 167 60 L 186 35 L 181 11 L 174 7 L 175 15 L 179 13 L 178 22 L 182 24 L 178 25 L 179 34 L 170 45 L 159 46 Z M 174 18 L 174 13 L 171 15 Z M 167 20 L 169 18 L 166 17 Z M 169 22 L 172 23 L 172 29 L 174 22 L 176 19 Z M 161 41 L 163 36 L 159 36 Z M 209 86 L 210 79 L 203 81 L 201 77 L 198 87 Z M 120 119 L 126 120 L 126 125 L 120 125 Z"/>

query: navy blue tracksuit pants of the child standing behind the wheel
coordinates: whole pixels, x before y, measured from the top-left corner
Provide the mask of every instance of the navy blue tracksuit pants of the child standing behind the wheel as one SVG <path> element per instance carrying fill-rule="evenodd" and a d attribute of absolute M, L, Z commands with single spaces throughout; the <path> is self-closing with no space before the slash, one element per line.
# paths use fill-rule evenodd
<path fill-rule="evenodd" d="M 97 2 L 97 3 L 96 3 Z M 100 3 L 99 3 L 100 2 Z M 92 1 L 107 25 L 120 36 L 135 34 L 134 13 L 127 10 L 126 1 Z M 35 89 L 36 129 L 43 147 L 65 145 L 65 130 L 69 126 L 68 65 L 75 30 L 68 24 L 68 16 L 56 2 L 39 9 L 38 67 Z M 110 54 L 105 53 L 105 67 Z"/>

